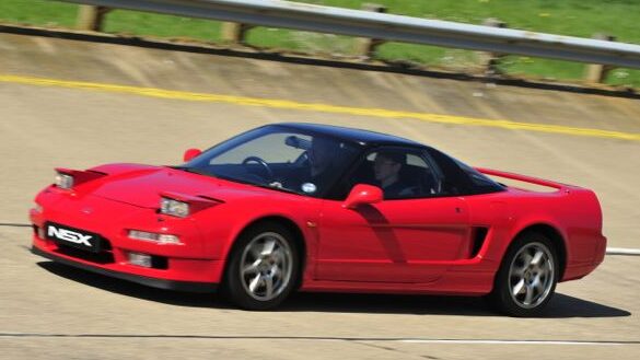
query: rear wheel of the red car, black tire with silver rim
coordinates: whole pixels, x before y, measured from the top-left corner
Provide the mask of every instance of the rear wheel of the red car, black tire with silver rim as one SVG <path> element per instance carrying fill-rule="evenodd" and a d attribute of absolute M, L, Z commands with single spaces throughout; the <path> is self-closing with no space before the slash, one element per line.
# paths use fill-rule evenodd
<path fill-rule="evenodd" d="M 558 255 L 545 235 L 527 232 L 507 251 L 496 275 L 490 305 L 516 317 L 539 315 L 551 300 L 558 283 Z"/>

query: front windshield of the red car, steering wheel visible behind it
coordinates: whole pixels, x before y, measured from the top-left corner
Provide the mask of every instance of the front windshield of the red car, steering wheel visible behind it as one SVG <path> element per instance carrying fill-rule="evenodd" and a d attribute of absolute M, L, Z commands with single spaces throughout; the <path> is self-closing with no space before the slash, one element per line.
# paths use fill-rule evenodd
<path fill-rule="evenodd" d="M 267 126 L 224 141 L 177 169 L 322 197 L 358 150 L 339 139 Z"/>

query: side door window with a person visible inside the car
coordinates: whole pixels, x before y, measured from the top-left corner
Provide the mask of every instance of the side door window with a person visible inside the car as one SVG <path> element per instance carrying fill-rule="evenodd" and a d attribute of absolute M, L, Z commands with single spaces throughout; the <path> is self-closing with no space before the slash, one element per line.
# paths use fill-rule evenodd
<path fill-rule="evenodd" d="M 437 196 L 440 171 L 426 155 L 415 149 L 377 148 L 356 167 L 349 187 L 375 185 L 383 189 L 384 198 L 388 200 Z"/>

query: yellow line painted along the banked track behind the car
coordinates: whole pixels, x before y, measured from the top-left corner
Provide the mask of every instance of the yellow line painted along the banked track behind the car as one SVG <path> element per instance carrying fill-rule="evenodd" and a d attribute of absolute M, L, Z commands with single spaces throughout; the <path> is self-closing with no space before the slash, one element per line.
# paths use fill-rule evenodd
<path fill-rule="evenodd" d="M 263 107 L 271 107 L 271 108 L 286 108 L 286 109 L 334 113 L 334 114 L 349 114 L 349 115 L 361 115 L 361 116 L 383 117 L 383 118 L 407 118 L 407 119 L 418 119 L 418 120 L 423 120 L 423 121 L 429 121 L 429 123 L 439 123 L 439 124 L 485 126 L 485 127 L 494 127 L 494 128 L 511 129 L 511 130 L 526 130 L 526 131 L 538 131 L 538 132 L 565 133 L 565 135 L 582 136 L 582 137 L 595 137 L 595 138 L 608 138 L 608 139 L 640 141 L 640 133 L 632 133 L 632 132 L 610 131 L 610 130 L 601 130 L 601 129 L 592 129 L 592 128 L 578 128 L 578 127 L 569 127 L 569 126 L 560 126 L 560 125 L 517 123 L 517 121 L 511 121 L 511 120 L 481 119 L 481 118 L 453 116 L 453 115 L 399 112 L 399 111 L 389 111 L 389 109 L 384 109 L 384 108 L 364 108 L 364 107 L 336 106 L 336 105 L 316 104 L 316 103 L 299 103 L 299 102 L 293 102 L 293 101 L 288 101 L 288 100 L 259 98 L 259 97 L 220 95 L 220 94 L 206 94 L 206 93 L 194 93 L 194 92 L 173 91 L 173 90 L 163 90 L 163 89 L 153 89 L 153 88 L 137 88 L 137 86 L 102 84 L 102 83 L 83 82 L 83 81 L 66 81 L 66 80 L 7 76 L 7 74 L 4 74 L 4 76 L 0 74 L 0 82 L 11 82 L 11 83 L 40 85 L 40 86 L 59 86 L 59 88 L 69 88 L 69 89 L 94 90 L 94 91 L 136 94 L 136 95 L 142 95 L 142 96 L 151 96 L 151 97 L 235 104 L 235 105 L 242 105 L 242 106 L 263 106 Z"/>

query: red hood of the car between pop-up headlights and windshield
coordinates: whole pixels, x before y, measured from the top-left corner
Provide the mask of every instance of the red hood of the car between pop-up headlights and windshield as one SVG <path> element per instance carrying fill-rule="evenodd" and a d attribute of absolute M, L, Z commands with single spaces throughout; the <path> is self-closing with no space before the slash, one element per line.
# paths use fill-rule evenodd
<path fill-rule="evenodd" d="M 231 198 L 254 197 L 269 191 L 244 184 L 160 166 L 105 176 L 85 184 L 83 188 L 79 187 L 78 190 L 143 208 L 158 208 L 161 193 L 177 193 L 228 201 Z"/>

